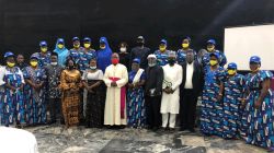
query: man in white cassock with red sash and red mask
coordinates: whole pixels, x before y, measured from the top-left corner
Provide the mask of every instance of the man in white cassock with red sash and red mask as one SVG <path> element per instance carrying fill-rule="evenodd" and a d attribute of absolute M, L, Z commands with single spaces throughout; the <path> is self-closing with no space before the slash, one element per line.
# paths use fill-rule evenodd
<path fill-rule="evenodd" d="M 127 69 L 118 63 L 117 54 L 112 55 L 112 64 L 105 69 L 104 83 L 107 87 L 104 125 L 119 126 L 126 125 L 126 87 L 128 81 Z"/>

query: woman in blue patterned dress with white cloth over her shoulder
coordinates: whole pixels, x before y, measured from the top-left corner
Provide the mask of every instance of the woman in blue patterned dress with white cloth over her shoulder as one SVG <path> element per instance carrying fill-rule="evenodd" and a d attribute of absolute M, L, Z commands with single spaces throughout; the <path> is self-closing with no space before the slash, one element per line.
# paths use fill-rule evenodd
<path fill-rule="evenodd" d="M 132 71 L 128 76 L 127 90 L 127 125 L 132 128 L 142 128 L 146 126 L 145 109 L 145 71 L 139 68 L 140 60 L 134 59 Z"/>

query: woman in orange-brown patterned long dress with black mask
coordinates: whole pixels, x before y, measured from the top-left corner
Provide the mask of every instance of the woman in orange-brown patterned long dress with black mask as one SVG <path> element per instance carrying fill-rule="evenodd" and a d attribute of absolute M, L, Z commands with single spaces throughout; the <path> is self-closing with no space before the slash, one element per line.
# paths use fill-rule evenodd
<path fill-rule="evenodd" d="M 81 73 L 76 69 L 76 62 L 68 59 L 60 79 L 61 105 L 66 128 L 79 123 L 80 87 Z"/>

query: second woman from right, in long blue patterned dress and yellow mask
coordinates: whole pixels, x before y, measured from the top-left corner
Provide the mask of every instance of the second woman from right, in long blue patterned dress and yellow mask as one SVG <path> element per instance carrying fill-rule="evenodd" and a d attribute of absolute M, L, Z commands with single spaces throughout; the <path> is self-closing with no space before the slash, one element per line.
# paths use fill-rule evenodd
<path fill-rule="evenodd" d="M 244 93 L 244 76 L 237 73 L 237 64 L 228 64 L 224 81 L 224 127 L 225 139 L 236 139 L 240 132 L 241 102 Z"/>

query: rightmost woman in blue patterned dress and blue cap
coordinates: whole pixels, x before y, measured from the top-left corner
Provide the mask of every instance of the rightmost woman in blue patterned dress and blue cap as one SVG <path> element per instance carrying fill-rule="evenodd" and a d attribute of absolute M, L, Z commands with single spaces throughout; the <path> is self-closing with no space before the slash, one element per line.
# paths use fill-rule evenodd
<path fill-rule="evenodd" d="M 247 75 L 247 105 L 243 119 L 247 120 L 247 143 L 267 148 L 274 146 L 274 94 L 270 89 L 273 74 L 260 70 L 261 59 L 250 58 L 251 73 Z"/>

